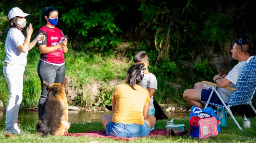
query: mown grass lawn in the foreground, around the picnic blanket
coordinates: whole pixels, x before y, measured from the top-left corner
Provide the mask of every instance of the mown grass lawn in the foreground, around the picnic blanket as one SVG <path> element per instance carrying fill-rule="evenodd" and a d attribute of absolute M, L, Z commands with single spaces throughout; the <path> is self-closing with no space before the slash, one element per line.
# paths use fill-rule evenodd
<path fill-rule="evenodd" d="M 238 123 L 242 125 L 242 117 L 236 117 Z M 185 124 L 185 129 L 188 129 L 188 119 L 175 119 L 175 124 Z M 153 137 L 153 138 L 140 138 L 134 139 L 130 142 L 256 142 L 256 118 L 250 118 L 251 128 L 243 128 L 243 131 L 240 131 L 235 125 L 231 117 L 227 117 L 227 127 L 222 127 L 222 132 L 217 136 L 211 137 L 204 140 L 199 139 L 190 139 L 184 136 L 182 137 Z M 160 129 L 165 129 L 166 120 L 157 121 L 157 127 Z M 34 135 L 35 125 L 27 124 L 21 125 L 20 128 L 24 131 L 29 132 L 23 136 L 16 136 L 14 138 L 5 138 L 3 135 L 3 130 L 0 129 L 0 142 L 91 142 L 91 141 L 100 141 L 100 142 L 126 142 L 126 141 L 116 141 L 114 139 L 105 139 L 105 138 L 93 138 L 93 137 L 39 137 Z M 99 122 L 92 123 L 72 123 L 69 129 L 70 133 L 86 132 L 89 130 L 103 130 L 103 126 Z"/>

